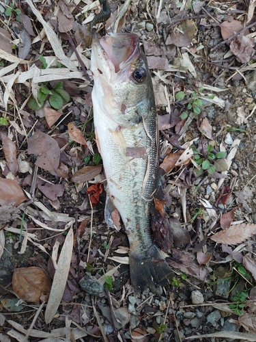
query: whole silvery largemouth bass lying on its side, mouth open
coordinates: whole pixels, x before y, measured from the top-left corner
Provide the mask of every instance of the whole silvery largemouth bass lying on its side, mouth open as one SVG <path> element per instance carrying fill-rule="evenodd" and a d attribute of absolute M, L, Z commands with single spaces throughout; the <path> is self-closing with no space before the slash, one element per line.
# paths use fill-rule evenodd
<path fill-rule="evenodd" d="M 158 129 L 152 79 L 135 34 L 94 36 L 92 101 L 96 142 L 106 174 L 105 220 L 116 208 L 130 243 L 135 292 L 166 284 L 171 268 L 150 235 L 150 212 L 159 186 Z"/>

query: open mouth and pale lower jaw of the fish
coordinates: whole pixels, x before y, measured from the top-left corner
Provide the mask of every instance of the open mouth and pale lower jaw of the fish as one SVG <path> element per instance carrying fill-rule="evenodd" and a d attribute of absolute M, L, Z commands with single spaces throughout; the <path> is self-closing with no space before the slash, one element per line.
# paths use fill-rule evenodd
<path fill-rule="evenodd" d="M 136 34 L 109 34 L 99 39 L 96 34 L 91 50 L 98 72 L 113 80 L 139 57 L 139 38 Z"/>

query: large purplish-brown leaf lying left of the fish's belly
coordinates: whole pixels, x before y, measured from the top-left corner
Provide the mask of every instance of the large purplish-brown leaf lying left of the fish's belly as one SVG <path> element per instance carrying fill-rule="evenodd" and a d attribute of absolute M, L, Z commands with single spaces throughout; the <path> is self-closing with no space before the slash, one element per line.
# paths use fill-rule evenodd
<path fill-rule="evenodd" d="M 51 174 L 57 174 L 60 149 L 53 137 L 39 130 L 35 131 L 35 134 L 29 137 L 27 153 L 38 155 L 35 165 Z"/>

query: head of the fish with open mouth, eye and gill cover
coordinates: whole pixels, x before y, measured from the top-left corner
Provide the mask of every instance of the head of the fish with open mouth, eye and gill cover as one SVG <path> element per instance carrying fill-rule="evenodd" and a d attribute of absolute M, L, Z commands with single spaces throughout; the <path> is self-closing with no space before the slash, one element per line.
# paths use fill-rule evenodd
<path fill-rule="evenodd" d="M 93 101 L 115 122 L 138 124 L 154 107 L 147 58 L 136 34 L 94 36 L 91 49 Z"/>

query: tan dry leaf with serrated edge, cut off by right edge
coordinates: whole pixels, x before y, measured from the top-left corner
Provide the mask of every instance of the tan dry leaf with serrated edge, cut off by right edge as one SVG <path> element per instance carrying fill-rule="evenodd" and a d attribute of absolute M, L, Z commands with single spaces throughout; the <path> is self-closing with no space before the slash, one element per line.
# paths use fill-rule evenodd
<path fill-rule="evenodd" d="M 225 245 L 238 245 L 256 234 L 256 224 L 234 224 L 226 231 L 219 231 L 210 237 L 213 241 Z"/>

